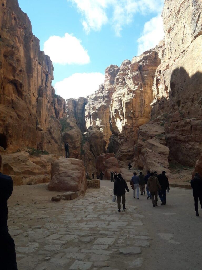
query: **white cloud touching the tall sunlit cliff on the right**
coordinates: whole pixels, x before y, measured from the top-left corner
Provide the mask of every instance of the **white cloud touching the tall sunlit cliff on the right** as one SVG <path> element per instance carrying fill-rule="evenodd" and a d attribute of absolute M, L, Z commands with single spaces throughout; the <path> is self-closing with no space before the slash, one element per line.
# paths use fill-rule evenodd
<path fill-rule="evenodd" d="M 154 48 L 163 37 L 163 20 L 161 14 L 159 14 L 145 23 L 143 33 L 137 40 L 138 55 L 148 49 Z"/>

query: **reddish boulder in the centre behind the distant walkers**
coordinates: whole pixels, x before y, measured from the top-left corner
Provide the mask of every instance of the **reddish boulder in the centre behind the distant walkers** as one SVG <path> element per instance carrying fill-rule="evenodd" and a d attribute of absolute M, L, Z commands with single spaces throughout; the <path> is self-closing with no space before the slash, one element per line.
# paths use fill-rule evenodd
<path fill-rule="evenodd" d="M 96 170 L 100 174 L 102 172 L 103 180 L 110 180 L 110 171 L 120 173 L 119 162 L 114 153 L 102 154 L 96 158 Z"/>

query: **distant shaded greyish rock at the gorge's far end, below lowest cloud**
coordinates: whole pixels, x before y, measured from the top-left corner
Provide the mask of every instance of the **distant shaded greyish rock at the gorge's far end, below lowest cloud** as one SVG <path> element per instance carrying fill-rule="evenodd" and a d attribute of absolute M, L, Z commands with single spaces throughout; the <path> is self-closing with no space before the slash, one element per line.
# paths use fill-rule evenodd
<path fill-rule="evenodd" d="M 76 124 L 82 132 L 86 132 L 85 106 L 87 99 L 79 97 L 78 99 L 66 100 L 66 113 L 76 119 Z"/>

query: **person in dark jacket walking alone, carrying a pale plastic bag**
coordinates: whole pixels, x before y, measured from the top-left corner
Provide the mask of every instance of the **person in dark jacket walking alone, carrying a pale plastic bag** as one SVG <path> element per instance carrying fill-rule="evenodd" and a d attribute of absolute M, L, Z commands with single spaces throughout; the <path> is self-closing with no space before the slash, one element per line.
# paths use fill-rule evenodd
<path fill-rule="evenodd" d="M 121 177 L 121 174 L 118 174 L 118 177 L 116 178 L 114 182 L 114 195 L 117 196 L 117 206 L 119 208 L 118 212 L 121 212 L 121 197 L 122 197 L 122 204 L 123 204 L 123 210 L 126 209 L 126 190 L 129 192 L 128 186 L 126 184 L 126 181 Z"/>

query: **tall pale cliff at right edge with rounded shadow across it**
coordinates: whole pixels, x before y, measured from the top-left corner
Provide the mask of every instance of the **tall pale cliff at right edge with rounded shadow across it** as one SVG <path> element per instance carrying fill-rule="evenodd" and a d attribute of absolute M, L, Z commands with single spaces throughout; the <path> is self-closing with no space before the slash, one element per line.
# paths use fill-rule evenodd
<path fill-rule="evenodd" d="M 165 1 L 165 40 L 153 85 L 152 119 L 164 118 L 170 160 L 188 166 L 202 151 L 201 9 L 201 1 Z"/>

